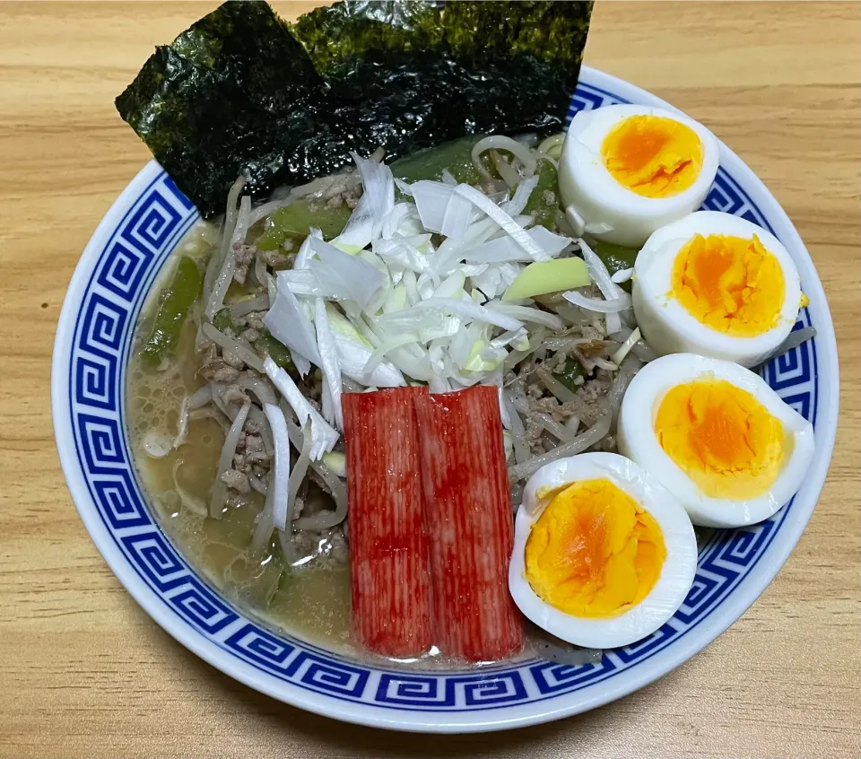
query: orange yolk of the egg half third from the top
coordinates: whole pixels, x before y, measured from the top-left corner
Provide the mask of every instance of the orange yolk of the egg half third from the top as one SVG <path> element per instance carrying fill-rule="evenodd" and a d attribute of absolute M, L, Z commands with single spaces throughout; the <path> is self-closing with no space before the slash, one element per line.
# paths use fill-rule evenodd
<path fill-rule="evenodd" d="M 767 492 L 792 449 L 783 424 L 725 379 L 675 386 L 657 409 L 655 432 L 667 456 L 709 498 Z"/>

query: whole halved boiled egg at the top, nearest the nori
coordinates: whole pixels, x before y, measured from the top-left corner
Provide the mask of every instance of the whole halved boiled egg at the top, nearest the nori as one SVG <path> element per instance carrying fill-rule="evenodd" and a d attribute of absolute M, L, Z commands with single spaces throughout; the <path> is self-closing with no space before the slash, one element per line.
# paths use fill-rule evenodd
<path fill-rule="evenodd" d="M 665 109 L 613 105 L 571 120 L 559 188 L 585 231 L 639 248 L 699 208 L 717 173 L 718 140 L 705 126 Z"/>

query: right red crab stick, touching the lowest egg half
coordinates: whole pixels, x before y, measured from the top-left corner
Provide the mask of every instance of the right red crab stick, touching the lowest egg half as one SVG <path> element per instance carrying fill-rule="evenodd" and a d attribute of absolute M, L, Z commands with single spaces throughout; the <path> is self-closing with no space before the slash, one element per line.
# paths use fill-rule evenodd
<path fill-rule="evenodd" d="M 514 527 L 497 388 L 419 396 L 415 410 L 434 642 L 470 661 L 502 659 L 521 649 L 523 629 L 509 596 Z"/>

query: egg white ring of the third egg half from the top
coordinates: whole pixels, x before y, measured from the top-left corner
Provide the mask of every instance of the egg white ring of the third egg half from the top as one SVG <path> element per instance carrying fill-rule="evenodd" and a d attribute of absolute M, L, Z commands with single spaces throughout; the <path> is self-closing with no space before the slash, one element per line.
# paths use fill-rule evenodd
<path fill-rule="evenodd" d="M 744 500 L 711 498 L 661 448 L 655 418 L 665 395 L 697 379 L 725 379 L 749 392 L 778 418 L 794 441 L 768 492 Z M 759 375 L 736 363 L 692 353 L 674 353 L 648 363 L 631 380 L 619 412 L 619 450 L 664 484 L 695 525 L 735 528 L 768 519 L 796 493 L 813 458 L 813 425 L 787 406 Z"/>

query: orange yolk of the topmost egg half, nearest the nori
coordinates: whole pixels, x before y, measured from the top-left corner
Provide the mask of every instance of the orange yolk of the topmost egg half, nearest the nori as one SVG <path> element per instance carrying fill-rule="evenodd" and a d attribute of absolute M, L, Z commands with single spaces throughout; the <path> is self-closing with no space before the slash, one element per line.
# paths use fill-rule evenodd
<path fill-rule="evenodd" d="M 631 116 L 613 127 L 601 148 L 613 178 L 637 195 L 678 195 L 700 176 L 700 135 L 663 116 Z"/>

